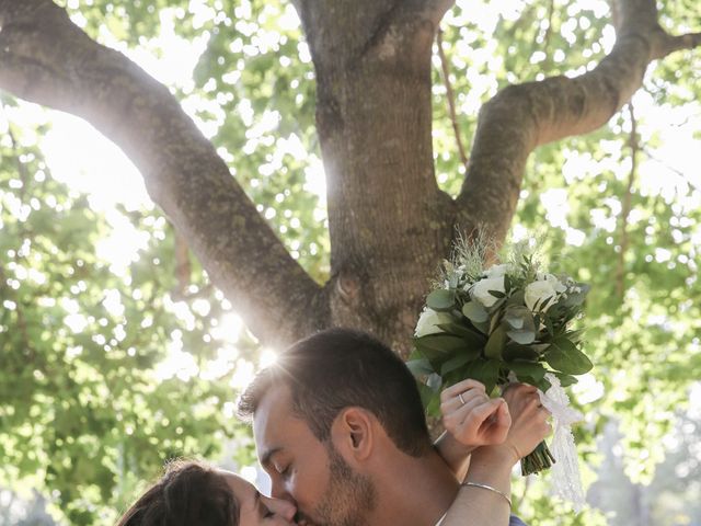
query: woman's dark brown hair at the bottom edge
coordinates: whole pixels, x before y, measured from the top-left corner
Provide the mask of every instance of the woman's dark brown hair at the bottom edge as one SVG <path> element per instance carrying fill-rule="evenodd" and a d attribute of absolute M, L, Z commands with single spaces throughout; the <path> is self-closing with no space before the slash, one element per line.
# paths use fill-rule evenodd
<path fill-rule="evenodd" d="M 225 477 L 205 464 L 173 460 L 117 526 L 239 526 L 239 502 Z"/>

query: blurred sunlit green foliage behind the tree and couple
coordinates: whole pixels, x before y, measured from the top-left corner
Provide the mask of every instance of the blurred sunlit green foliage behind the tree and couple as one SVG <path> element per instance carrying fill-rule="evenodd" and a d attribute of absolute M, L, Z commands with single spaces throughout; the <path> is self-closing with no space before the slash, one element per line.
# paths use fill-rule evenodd
<path fill-rule="evenodd" d="M 175 60 L 177 80 L 164 81 L 292 255 L 325 281 L 314 73 L 291 4 L 58 3 L 137 61 L 168 58 L 175 44 L 196 58 L 192 71 Z M 660 10 L 668 30 L 701 31 L 694 0 Z M 581 73 L 612 38 L 602 1 L 458 1 L 434 55 L 440 186 L 455 195 L 464 173 L 446 81 L 469 152 L 478 111 L 498 89 Z M 701 376 L 699 71 L 698 50 L 668 57 L 650 68 L 632 108 L 529 160 L 512 237 L 547 231 L 543 253 L 591 284 L 596 367 L 574 392 L 586 414 L 576 430 L 585 481 L 601 507 L 575 516 L 547 496 L 547 476 L 519 480 L 516 510 L 530 524 L 701 522 L 701 415 L 689 411 Z M 101 208 L 54 176 L 42 146 L 55 114 L 39 113 L 2 95 L 0 518 L 49 524 L 18 523 L 34 489 L 51 521 L 110 524 L 171 456 L 253 464 L 233 403 L 266 353 L 148 201 Z M 69 159 L 91 156 L 78 139 L 66 145 Z M 139 243 L 119 266 L 100 247 L 125 221 Z"/>

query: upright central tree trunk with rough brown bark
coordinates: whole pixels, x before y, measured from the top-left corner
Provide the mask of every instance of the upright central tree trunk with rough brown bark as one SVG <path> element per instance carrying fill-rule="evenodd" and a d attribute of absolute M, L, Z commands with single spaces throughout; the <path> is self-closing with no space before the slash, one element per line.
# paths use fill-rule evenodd
<path fill-rule="evenodd" d="M 430 136 L 430 54 L 446 5 L 359 3 L 297 3 L 318 82 L 332 323 L 406 351 L 452 235 Z"/>

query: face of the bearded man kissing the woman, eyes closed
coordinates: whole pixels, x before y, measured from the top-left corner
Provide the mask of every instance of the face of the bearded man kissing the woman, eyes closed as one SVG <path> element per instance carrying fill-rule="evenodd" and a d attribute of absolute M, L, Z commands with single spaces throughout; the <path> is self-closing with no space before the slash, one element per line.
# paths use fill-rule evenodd
<path fill-rule="evenodd" d="M 273 496 L 297 505 L 299 524 L 365 524 L 363 512 L 375 505 L 372 483 L 292 414 L 286 386 L 275 387 L 263 397 L 255 411 L 253 433 L 261 465 L 271 476 Z"/>

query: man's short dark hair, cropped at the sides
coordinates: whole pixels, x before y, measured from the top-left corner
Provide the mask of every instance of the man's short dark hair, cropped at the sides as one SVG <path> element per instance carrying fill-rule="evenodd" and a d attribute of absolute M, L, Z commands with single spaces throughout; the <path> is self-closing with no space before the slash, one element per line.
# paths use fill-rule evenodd
<path fill-rule="evenodd" d="M 402 451 L 414 457 L 430 449 L 421 396 L 401 358 L 369 334 L 330 329 L 301 340 L 263 369 L 239 402 L 239 414 L 251 419 L 274 386 L 290 389 L 292 410 L 320 442 L 345 408 L 375 414 Z"/>

